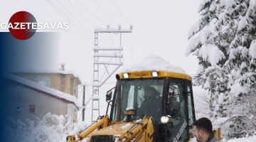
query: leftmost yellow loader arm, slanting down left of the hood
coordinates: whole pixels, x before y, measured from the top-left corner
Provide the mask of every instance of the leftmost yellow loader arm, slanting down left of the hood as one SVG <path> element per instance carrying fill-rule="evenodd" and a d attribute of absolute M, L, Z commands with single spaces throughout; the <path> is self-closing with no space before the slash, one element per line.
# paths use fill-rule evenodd
<path fill-rule="evenodd" d="M 101 116 L 95 124 L 90 126 L 89 129 L 87 129 L 86 131 L 84 131 L 82 133 L 78 133 L 78 140 L 76 139 L 75 135 L 72 135 L 72 136 L 67 137 L 67 142 L 82 141 L 82 139 L 85 138 L 86 136 L 90 135 L 90 133 L 92 133 L 92 131 L 95 131 L 96 129 L 100 129 L 100 126 L 103 126 L 102 128 L 105 128 L 108 126 L 108 124 L 109 124 L 109 117 L 107 115 Z"/>

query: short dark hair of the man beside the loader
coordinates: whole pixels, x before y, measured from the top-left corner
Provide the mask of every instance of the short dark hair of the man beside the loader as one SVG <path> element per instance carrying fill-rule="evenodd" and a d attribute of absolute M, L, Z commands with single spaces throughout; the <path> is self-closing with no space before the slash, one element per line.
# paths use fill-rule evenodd
<path fill-rule="evenodd" d="M 211 124 L 211 121 L 206 117 L 196 120 L 193 123 L 193 126 L 196 126 L 196 129 L 198 129 L 198 131 L 203 130 L 209 134 L 213 133 L 213 125 Z"/>

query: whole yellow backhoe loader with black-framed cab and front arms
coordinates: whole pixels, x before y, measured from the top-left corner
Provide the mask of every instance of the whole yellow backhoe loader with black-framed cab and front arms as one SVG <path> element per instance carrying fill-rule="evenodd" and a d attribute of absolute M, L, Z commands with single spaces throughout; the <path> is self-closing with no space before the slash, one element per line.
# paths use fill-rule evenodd
<path fill-rule="evenodd" d="M 177 72 L 142 71 L 116 75 L 107 92 L 110 115 L 68 136 L 68 142 L 188 142 L 196 120 L 192 77 Z M 216 131 L 220 139 L 220 130 Z"/>

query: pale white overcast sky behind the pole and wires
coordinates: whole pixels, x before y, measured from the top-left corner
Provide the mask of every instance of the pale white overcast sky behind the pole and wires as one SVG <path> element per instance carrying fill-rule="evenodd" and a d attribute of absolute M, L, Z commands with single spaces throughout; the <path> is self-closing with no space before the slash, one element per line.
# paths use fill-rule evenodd
<path fill-rule="evenodd" d="M 38 22 L 68 22 L 70 28 L 67 32 L 56 31 L 60 32 L 59 40 L 56 39 L 60 43 L 60 58 L 53 62 L 56 68 L 60 66 L 60 62 L 66 62 L 68 70 L 73 70 L 82 82 L 89 84 L 92 83 L 93 70 L 93 31 L 95 28 L 106 28 L 107 24 L 113 28 L 121 24 L 122 29 L 129 28 L 130 24 L 133 26 L 132 33 L 122 35 L 125 68 L 154 53 L 172 65 L 182 67 L 188 75 L 193 75 L 196 74 L 198 60 L 192 56 L 186 57 L 185 50 L 188 31 L 199 19 L 200 2 L 201 0 L 10 0 L 1 1 L 0 23 L 8 22 L 18 11 L 32 13 Z M 105 33 L 99 35 L 99 39 L 102 47 L 119 45 L 119 35 Z M 107 82 L 115 82 L 114 76 Z M 114 84 L 105 85 L 105 89 L 101 91 L 102 96 L 112 86 Z M 88 93 L 91 92 L 90 89 Z M 102 110 L 101 114 L 104 112 Z"/>

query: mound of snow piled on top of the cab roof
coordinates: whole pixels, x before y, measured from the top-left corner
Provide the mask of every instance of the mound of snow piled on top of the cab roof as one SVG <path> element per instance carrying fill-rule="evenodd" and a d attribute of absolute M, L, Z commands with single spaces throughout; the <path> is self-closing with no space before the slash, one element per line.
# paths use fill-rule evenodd
<path fill-rule="evenodd" d="M 131 68 L 122 72 L 139 72 L 139 71 L 165 71 L 178 72 L 185 74 L 181 67 L 171 65 L 169 62 L 159 57 L 158 55 L 149 54 L 141 62 L 133 65 Z"/>

